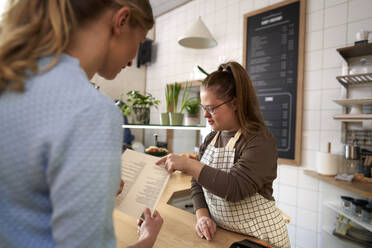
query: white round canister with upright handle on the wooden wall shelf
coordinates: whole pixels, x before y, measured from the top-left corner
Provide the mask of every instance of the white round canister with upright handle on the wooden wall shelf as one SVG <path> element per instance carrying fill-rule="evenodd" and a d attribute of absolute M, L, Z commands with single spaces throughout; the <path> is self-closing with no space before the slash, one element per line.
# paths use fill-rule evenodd
<path fill-rule="evenodd" d="M 325 152 L 316 153 L 316 171 L 325 176 L 337 175 L 338 168 L 343 163 L 343 156 Z"/>

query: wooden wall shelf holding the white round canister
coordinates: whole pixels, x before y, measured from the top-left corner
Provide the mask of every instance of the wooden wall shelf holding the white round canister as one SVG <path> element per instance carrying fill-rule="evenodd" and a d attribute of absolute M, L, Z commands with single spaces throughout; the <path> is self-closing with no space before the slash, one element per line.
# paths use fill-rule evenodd
<path fill-rule="evenodd" d="M 372 183 L 363 182 L 344 182 L 336 180 L 333 176 L 323 176 L 315 171 L 304 170 L 304 174 L 319 179 L 333 186 L 353 192 L 361 197 L 372 198 Z"/>

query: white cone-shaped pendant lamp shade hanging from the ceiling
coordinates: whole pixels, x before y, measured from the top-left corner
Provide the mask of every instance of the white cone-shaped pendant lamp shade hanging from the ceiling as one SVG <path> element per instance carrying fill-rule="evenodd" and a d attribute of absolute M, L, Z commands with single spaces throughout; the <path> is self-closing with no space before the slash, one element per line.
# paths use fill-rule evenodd
<path fill-rule="evenodd" d="M 208 28 L 205 26 L 200 16 L 192 24 L 186 34 L 178 39 L 181 46 L 189 48 L 210 48 L 217 45 L 217 41 L 213 38 Z"/>

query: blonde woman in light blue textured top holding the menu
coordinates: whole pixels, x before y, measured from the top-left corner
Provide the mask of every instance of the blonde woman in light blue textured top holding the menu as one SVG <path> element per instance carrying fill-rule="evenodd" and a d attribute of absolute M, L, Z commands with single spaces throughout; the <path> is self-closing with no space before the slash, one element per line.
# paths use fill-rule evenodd
<path fill-rule="evenodd" d="M 116 247 L 122 116 L 89 80 L 130 66 L 148 0 L 13 0 L 0 26 L 0 246 Z M 163 220 L 147 209 L 132 247 Z"/>

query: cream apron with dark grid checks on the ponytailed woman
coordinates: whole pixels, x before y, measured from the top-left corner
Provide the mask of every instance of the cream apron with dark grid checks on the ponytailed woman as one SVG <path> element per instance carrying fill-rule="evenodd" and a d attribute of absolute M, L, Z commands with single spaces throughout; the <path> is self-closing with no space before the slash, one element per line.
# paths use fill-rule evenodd
<path fill-rule="evenodd" d="M 241 132 L 229 140 L 225 147 L 214 147 L 220 132 L 207 146 L 200 162 L 229 172 L 234 166 L 235 143 Z M 275 201 L 255 193 L 238 202 L 228 202 L 203 187 L 209 212 L 218 226 L 268 242 L 275 247 L 290 247 L 287 227 Z"/>

